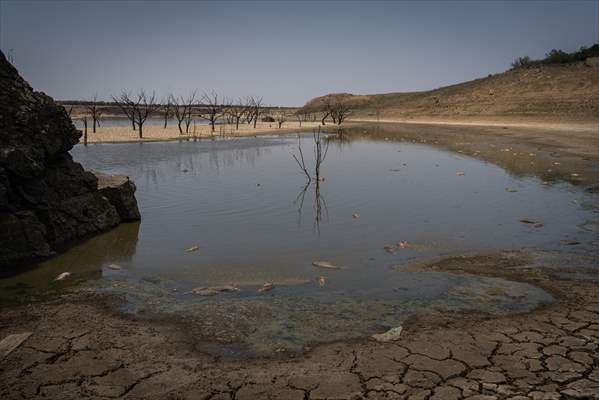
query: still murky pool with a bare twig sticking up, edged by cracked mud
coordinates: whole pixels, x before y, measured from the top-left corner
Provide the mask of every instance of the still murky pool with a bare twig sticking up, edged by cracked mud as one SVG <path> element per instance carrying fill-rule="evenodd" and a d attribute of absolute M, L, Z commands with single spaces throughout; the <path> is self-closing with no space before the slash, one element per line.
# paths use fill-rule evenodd
<path fill-rule="evenodd" d="M 311 136 L 301 145 L 310 164 Z M 114 293 L 137 316 L 193 321 L 207 351 L 263 355 L 385 331 L 423 310 L 521 312 L 552 299 L 503 279 L 402 271 L 408 264 L 504 248 L 562 251 L 562 240 L 580 242 L 574 252 L 597 245 L 595 199 L 567 184 L 360 139 L 331 141 L 325 180 L 306 186 L 291 156 L 297 147 L 294 137 L 75 147 L 86 168 L 135 181 L 142 222 L 0 281 L 2 298 L 72 285 Z M 65 271 L 67 280 L 53 281 Z M 259 294 L 267 281 L 275 288 Z M 219 285 L 240 290 L 190 293 Z"/>

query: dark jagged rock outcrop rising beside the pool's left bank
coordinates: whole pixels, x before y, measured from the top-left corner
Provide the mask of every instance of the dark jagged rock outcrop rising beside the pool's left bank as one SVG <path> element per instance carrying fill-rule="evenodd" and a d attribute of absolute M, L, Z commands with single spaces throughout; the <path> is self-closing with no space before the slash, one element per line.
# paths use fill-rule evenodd
<path fill-rule="evenodd" d="M 0 52 L 0 272 L 139 219 L 134 185 L 112 204 L 73 161 L 80 136 L 64 108 L 34 92 Z"/>

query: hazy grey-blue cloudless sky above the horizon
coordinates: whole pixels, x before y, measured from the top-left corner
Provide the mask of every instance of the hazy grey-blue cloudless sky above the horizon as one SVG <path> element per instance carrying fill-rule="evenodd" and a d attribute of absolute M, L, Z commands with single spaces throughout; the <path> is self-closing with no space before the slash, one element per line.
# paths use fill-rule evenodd
<path fill-rule="evenodd" d="M 0 49 L 60 100 L 197 89 L 300 106 L 434 89 L 593 43 L 599 0 L 0 0 Z"/>

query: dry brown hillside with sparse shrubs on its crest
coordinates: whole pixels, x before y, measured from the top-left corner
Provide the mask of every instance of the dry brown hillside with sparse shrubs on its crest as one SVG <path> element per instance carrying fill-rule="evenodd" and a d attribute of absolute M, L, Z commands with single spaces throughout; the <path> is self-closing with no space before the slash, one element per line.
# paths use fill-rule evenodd
<path fill-rule="evenodd" d="M 534 117 L 599 120 L 599 61 L 532 63 L 434 90 L 354 95 L 330 94 L 347 102 L 352 118 Z M 322 108 L 325 96 L 306 103 Z"/>

